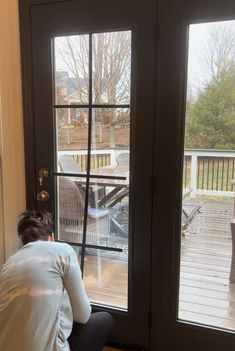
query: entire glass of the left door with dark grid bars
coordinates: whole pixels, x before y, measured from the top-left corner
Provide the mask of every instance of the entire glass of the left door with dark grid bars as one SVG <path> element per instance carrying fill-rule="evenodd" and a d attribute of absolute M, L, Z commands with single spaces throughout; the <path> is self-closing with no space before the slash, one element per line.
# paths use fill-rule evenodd
<path fill-rule="evenodd" d="M 91 301 L 127 310 L 131 31 L 56 37 L 54 58 L 58 239 Z"/>

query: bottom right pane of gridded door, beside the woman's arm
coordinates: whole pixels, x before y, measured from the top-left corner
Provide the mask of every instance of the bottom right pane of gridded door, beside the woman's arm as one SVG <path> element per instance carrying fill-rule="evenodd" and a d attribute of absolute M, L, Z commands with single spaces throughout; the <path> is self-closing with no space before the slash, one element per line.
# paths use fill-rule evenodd
<path fill-rule="evenodd" d="M 87 249 L 84 283 L 91 302 L 127 309 L 128 265 L 121 254 Z"/>

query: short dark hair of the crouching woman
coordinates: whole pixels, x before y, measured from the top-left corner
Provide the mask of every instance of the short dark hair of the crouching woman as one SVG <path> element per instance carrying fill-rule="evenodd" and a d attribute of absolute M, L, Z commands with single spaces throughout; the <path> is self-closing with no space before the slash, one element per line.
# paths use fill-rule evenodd
<path fill-rule="evenodd" d="M 21 214 L 17 225 L 18 235 L 23 245 L 31 241 L 48 240 L 53 233 L 53 218 L 49 212 L 28 210 Z"/>

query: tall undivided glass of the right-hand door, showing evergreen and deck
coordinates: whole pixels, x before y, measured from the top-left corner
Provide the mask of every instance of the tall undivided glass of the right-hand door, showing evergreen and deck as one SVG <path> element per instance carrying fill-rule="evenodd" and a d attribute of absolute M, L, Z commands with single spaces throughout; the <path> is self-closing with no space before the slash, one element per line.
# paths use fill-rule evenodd
<path fill-rule="evenodd" d="M 235 21 L 189 26 L 178 318 L 235 330 Z"/>

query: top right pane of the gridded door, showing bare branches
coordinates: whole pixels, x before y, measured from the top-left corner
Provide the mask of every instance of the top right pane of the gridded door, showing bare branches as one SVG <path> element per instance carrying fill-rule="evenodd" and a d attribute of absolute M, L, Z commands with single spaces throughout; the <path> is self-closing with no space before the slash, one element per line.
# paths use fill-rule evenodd
<path fill-rule="evenodd" d="M 131 32 L 94 34 L 92 49 L 93 103 L 129 104 Z"/>

